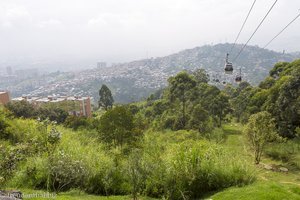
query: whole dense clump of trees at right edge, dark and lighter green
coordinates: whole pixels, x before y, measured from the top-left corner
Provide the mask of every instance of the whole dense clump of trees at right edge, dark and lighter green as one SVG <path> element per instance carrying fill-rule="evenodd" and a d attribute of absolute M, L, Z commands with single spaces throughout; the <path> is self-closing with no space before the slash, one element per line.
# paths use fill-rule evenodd
<path fill-rule="evenodd" d="M 260 111 L 271 113 L 280 135 L 293 138 L 300 126 L 300 60 L 277 63 L 259 87 L 241 83 L 231 104 L 238 120 Z"/>

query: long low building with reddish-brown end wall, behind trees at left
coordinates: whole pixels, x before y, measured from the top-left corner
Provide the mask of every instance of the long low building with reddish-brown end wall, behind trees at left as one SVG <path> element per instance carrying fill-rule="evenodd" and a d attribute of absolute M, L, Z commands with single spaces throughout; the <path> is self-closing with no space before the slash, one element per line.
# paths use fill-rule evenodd
<path fill-rule="evenodd" d="M 80 96 L 48 96 L 31 97 L 22 96 L 12 99 L 12 101 L 27 101 L 35 107 L 57 107 L 61 108 L 74 116 L 92 116 L 91 98 Z"/>

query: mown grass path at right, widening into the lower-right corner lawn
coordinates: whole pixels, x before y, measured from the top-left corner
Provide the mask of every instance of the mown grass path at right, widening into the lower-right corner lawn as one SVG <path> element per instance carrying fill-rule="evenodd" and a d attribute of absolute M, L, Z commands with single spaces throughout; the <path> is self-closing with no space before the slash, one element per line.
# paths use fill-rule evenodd
<path fill-rule="evenodd" d="M 246 141 L 242 136 L 243 127 L 239 124 L 226 124 L 223 131 L 226 134 L 225 147 L 232 151 L 240 152 L 241 156 L 252 164 L 253 157 L 248 150 Z M 272 160 L 267 157 L 262 158 L 264 164 L 282 164 L 285 163 Z M 288 173 L 275 172 L 260 168 L 257 166 L 258 180 L 245 187 L 232 187 L 220 191 L 210 199 L 243 199 L 243 200 L 282 200 L 282 199 L 300 199 L 300 172 L 290 170 Z"/>

